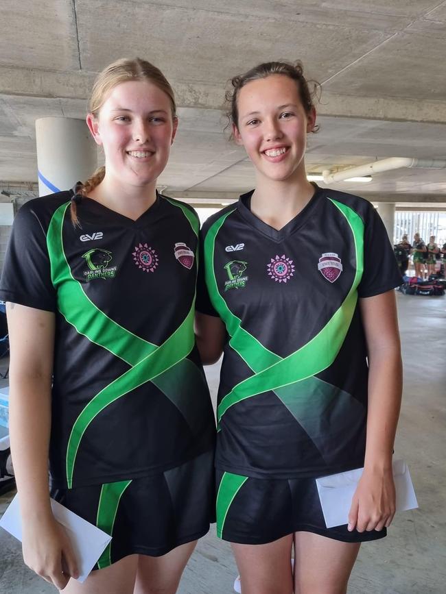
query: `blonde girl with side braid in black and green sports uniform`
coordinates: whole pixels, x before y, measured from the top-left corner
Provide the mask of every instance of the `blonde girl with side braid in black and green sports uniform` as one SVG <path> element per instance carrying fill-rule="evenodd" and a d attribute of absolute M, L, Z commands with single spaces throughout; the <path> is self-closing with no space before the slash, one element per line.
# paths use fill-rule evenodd
<path fill-rule="evenodd" d="M 156 192 L 178 125 L 159 69 L 110 64 L 87 124 L 105 169 L 21 208 L 1 278 L 23 556 L 69 593 L 170 594 L 213 516 L 198 217 Z M 49 491 L 113 536 L 84 584 Z"/>

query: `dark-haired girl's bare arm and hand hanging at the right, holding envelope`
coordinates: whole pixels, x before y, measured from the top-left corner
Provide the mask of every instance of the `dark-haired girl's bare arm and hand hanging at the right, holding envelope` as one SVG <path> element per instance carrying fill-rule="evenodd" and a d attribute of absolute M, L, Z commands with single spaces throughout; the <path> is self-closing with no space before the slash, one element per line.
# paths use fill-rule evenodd
<path fill-rule="evenodd" d="M 401 406 L 402 365 L 393 290 L 360 299 L 368 350 L 368 415 L 364 473 L 349 529 L 382 530 L 395 514 L 392 449 Z"/>

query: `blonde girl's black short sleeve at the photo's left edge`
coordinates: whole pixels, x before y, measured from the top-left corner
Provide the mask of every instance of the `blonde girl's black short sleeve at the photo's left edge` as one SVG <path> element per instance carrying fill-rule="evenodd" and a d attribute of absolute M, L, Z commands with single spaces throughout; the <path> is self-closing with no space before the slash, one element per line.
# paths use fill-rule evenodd
<path fill-rule="evenodd" d="M 16 214 L 0 280 L 0 299 L 40 310 L 56 311 L 46 232 L 26 203 Z"/>

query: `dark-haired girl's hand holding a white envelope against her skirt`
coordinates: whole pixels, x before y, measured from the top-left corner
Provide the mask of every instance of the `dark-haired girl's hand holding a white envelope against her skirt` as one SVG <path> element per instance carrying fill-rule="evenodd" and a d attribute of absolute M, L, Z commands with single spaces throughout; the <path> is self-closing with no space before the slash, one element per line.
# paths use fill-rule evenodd
<path fill-rule="evenodd" d="M 388 528 L 395 515 L 395 484 L 392 470 L 364 469 L 351 502 L 348 529 L 370 532 Z"/>

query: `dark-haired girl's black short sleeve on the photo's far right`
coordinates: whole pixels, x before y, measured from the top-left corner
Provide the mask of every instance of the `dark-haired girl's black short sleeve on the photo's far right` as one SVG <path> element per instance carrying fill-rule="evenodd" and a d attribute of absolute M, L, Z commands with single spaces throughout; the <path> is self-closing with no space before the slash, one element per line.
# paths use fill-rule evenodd
<path fill-rule="evenodd" d="M 373 297 L 401 285 L 403 279 L 386 227 L 372 204 L 364 224 L 364 272 L 357 293 Z"/>

